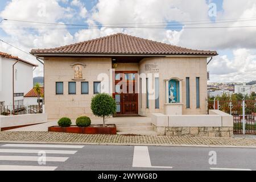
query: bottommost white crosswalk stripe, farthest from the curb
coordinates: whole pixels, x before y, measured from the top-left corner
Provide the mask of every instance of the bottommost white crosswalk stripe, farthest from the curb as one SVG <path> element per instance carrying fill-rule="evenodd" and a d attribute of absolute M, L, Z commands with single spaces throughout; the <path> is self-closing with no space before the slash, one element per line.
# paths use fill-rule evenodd
<path fill-rule="evenodd" d="M 54 171 L 55 166 L 14 166 L 0 165 L 0 171 Z"/>

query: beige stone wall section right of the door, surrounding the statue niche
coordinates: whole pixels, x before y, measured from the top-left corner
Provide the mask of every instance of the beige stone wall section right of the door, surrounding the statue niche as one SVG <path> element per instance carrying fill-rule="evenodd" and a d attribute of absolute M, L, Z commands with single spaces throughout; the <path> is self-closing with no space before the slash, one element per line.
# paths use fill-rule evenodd
<path fill-rule="evenodd" d="M 157 65 L 158 71 L 146 70 L 146 65 Z M 139 62 L 139 73 L 159 74 L 159 109 L 155 109 L 155 100 L 146 107 L 146 94 L 142 93 L 139 114 L 166 113 L 166 82 L 171 78 L 181 80 L 180 103 L 182 114 L 207 114 L 207 57 L 151 57 Z M 189 77 L 190 107 L 186 107 L 186 77 Z M 196 107 L 196 77 L 200 78 L 200 107 Z M 146 82 L 142 83 L 146 88 Z M 154 85 L 154 79 L 152 79 Z"/>

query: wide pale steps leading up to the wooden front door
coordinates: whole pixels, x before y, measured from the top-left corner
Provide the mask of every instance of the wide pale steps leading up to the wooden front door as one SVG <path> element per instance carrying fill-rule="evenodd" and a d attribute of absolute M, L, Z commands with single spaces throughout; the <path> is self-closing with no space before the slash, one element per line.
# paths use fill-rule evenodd
<path fill-rule="evenodd" d="M 151 123 L 118 123 L 116 126 L 119 135 L 156 135 Z"/>

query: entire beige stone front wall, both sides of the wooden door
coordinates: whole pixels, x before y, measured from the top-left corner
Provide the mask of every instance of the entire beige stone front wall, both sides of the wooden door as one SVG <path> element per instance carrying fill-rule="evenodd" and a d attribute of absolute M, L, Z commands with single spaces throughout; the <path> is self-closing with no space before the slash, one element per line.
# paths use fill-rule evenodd
<path fill-rule="evenodd" d="M 74 81 L 72 64 L 85 65 L 82 68 L 82 80 L 88 81 L 89 93 L 81 94 L 81 81 L 76 81 L 76 94 L 68 94 L 68 82 Z M 44 61 L 44 103 L 49 119 L 60 117 L 76 118 L 80 115 L 92 117 L 90 101 L 93 97 L 93 82 L 100 81 L 100 74 L 109 78 L 113 73 L 113 61 L 110 57 L 45 57 Z M 146 69 L 148 65 L 154 69 Z M 181 81 L 180 107 L 182 114 L 206 114 L 207 98 L 207 57 L 151 57 L 144 58 L 139 63 L 117 63 L 115 71 L 138 71 L 148 76 L 158 73 L 159 76 L 159 109 L 155 109 L 155 99 L 146 107 L 146 92 L 138 94 L 138 114 L 149 116 L 151 113 L 166 113 L 166 85 L 165 81 L 179 78 Z M 114 74 L 114 73 L 113 73 Z M 149 75 L 150 76 L 150 75 Z M 190 79 L 190 108 L 186 108 L 185 79 Z M 196 107 L 196 77 L 200 77 L 200 107 Z M 146 80 L 146 78 L 144 78 Z M 146 81 L 142 80 L 142 87 L 146 88 Z M 56 82 L 63 82 L 64 93 L 56 94 Z M 139 80 L 138 80 L 139 82 Z M 109 88 L 113 82 L 109 82 Z M 154 79 L 152 79 L 154 85 Z M 138 84 L 139 90 L 139 84 Z M 143 90 L 142 90 L 143 91 Z M 110 93 L 111 94 L 111 93 Z"/>

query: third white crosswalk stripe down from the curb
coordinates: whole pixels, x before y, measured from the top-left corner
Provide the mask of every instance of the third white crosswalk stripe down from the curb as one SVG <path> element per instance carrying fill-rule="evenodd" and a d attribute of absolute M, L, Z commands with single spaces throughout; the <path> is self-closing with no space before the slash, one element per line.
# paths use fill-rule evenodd
<path fill-rule="evenodd" d="M 38 161 L 41 156 L 9 156 L 0 155 L 0 160 L 18 160 L 18 161 Z M 61 157 L 47 157 L 46 162 L 65 162 L 68 158 Z"/>

